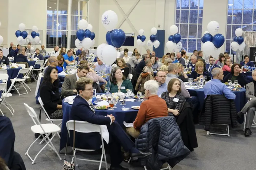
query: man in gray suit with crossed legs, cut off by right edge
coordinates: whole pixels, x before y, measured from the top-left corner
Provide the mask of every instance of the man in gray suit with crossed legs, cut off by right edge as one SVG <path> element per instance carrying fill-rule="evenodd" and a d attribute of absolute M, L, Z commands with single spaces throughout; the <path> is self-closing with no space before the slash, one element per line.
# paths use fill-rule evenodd
<path fill-rule="evenodd" d="M 256 88 L 256 70 L 252 71 L 252 78 L 253 82 L 246 84 L 246 99 L 249 100 L 248 103 L 242 108 L 240 112 L 237 113 L 237 118 L 244 117 L 244 114 L 247 112 L 246 120 L 245 120 L 245 131 L 244 135 L 249 136 L 252 134 L 251 126 L 253 123 L 255 111 L 256 111 L 256 95 L 255 95 L 255 88 Z"/>

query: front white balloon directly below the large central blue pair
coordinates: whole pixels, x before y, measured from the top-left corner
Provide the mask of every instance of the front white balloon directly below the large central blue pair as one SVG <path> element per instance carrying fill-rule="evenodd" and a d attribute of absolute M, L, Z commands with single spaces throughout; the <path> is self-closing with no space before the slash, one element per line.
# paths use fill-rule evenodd
<path fill-rule="evenodd" d="M 102 49 L 101 59 L 106 65 L 112 65 L 117 58 L 117 51 L 116 48 L 110 45 L 106 45 Z"/>

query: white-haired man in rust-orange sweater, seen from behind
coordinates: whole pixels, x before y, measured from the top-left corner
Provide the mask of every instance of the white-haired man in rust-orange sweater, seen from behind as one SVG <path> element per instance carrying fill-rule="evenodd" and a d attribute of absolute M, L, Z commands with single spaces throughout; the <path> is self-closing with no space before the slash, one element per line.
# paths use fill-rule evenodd
<path fill-rule="evenodd" d="M 146 81 L 144 84 L 144 89 L 145 97 L 148 98 L 148 100 L 143 101 L 140 105 L 139 112 L 135 121 L 133 122 L 133 127 L 126 128 L 127 134 L 131 135 L 135 139 L 139 137 L 140 128 L 143 124 L 147 123 L 148 120 L 168 116 L 168 108 L 165 100 L 157 96 L 157 82 L 154 80 Z"/>

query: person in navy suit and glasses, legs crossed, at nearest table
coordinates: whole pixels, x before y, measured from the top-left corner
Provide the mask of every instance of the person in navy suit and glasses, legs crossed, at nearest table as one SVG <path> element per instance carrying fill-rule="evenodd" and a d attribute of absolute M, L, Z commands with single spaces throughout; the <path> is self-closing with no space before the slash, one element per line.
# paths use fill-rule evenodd
<path fill-rule="evenodd" d="M 147 157 L 151 153 L 143 153 L 135 148 L 135 144 L 127 136 L 123 128 L 116 123 L 113 115 L 101 116 L 95 114 L 93 104 L 89 101 L 93 97 L 92 84 L 93 81 L 85 77 L 76 81 L 78 96 L 75 97 L 72 104 L 70 120 L 80 120 L 87 121 L 91 124 L 105 125 L 101 128 L 107 128 L 108 130 L 109 142 L 106 142 L 109 143 L 110 147 L 110 170 L 128 170 L 128 168 L 124 168 L 120 165 L 123 161 L 121 146 L 126 152 L 130 152 L 132 160 Z M 83 136 L 76 135 L 76 137 L 78 137 L 76 141 L 79 142 L 75 142 L 75 147 L 82 149 L 99 149 L 101 146 L 99 133 L 83 134 Z M 81 142 L 81 140 L 83 142 Z"/>

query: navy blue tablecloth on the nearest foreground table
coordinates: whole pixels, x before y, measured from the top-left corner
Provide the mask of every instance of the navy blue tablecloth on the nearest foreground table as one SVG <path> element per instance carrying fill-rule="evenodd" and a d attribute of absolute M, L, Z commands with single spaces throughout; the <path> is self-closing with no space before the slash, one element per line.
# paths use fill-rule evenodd
<path fill-rule="evenodd" d="M 100 94 L 103 94 L 103 93 L 100 93 Z M 124 105 L 124 107 L 130 108 L 130 110 L 122 111 L 121 108 L 123 107 L 123 105 L 120 105 L 120 102 L 118 102 L 116 105 L 117 108 L 114 109 L 113 111 L 95 109 L 95 113 L 97 115 L 103 115 L 103 116 L 113 114 L 113 116 L 116 118 L 117 123 L 119 123 L 121 125 L 121 127 L 123 127 L 124 121 L 127 123 L 132 123 L 137 116 L 138 110 L 131 109 L 131 107 L 132 106 L 140 106 L 141 103 L 142 102 L 139 102 L 139 101 L 125 102 L 126 105 Z M 61 124 L 60 151 L 66 146 L 67 135 L 68 135 L 66 123 L 69 120 L 69 114 L 71 112 L 71 107 L 72 107 L 72 105 L 70 105 L 68 103 L 64 103 L 64 100 L 62 101 L 63 119 L 62 119 L 62 124 Z"/>

